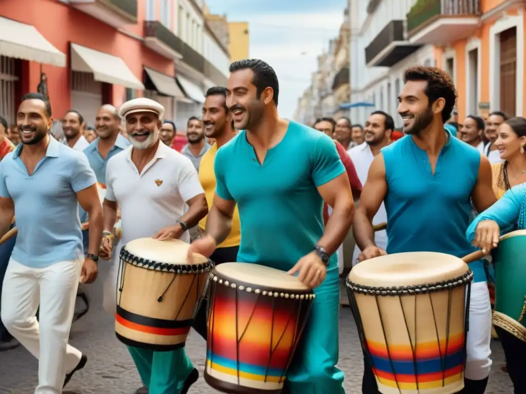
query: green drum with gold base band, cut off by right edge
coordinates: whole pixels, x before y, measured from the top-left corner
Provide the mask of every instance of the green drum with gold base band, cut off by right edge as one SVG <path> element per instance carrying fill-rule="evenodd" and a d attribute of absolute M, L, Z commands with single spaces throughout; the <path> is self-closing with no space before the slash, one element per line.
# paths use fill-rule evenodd
<path fill-rule="evenodd" d="M 522 248 L 526 246 L 526 230 L 501 236 L 495 250 L 495 309 L 493 325 L 526 342 L 526 265 Z"/>

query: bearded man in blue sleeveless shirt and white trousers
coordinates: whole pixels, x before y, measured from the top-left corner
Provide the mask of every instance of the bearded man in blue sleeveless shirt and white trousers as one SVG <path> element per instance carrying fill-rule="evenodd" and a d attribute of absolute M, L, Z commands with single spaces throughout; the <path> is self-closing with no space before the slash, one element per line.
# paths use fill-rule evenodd
<path fill-rule="evenodd" d="M 471 201 L 481 212 L 495 202 L 487 158 L 444 130 L 457 99 L 449 76 L 436 67 L 406 70 L 398 112 L 407 136 L 381 150 L 369 170 L 353 231 L 359 260 L 386 253 L 441 252 L 463 257 L 476 249 L 466 239 Z M 387 251 L 375 245 L 372 218 L 385 202 Z M 481 261 L 474 273 L 469 308 L 465 387 L 483 394 L 491 367 L 491 307 Z M 366 362 L 363 393 L 377 393 Z"/>

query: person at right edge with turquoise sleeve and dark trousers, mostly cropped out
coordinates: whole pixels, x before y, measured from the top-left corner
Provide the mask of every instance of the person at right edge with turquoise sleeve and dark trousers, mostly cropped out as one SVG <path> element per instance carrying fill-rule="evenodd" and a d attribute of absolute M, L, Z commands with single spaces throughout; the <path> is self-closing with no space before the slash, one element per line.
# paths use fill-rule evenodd
<path fill-rule="evenodd" d="M 514 186 L 490 208 L 478 215 L 468 227 L 466 236 L 474 246 L 489 252 L 499 243 L 499 236 L 513 230 L 526 229 L 526 183 Z M 515 394 L 526 392 L 524 355 L 526 343 L 495 326 L 508 362 L 508 373 Z"/>

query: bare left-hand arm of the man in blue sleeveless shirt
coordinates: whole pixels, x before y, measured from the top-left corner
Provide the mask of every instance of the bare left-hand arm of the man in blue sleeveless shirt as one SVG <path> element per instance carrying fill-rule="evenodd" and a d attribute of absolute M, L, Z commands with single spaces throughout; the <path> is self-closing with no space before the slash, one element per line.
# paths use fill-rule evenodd
<path fill-rule="evenodd" d="M 360 203 L 358 204 L 355 219 L 352 223 L 352 231 L 356 244 L 362 251 L 358 256 L 360 262 L 387 254 L 385 250 L 375 244 L 376 229 L 372 225 L 372 219 L 380 209 L 386 194 L 386 167 L 383 162 L 383 155 L 379 153 L 369 168 L 367 182 L 363 185 Z M 381 225 L 382 224 L 379 226 Z"/>

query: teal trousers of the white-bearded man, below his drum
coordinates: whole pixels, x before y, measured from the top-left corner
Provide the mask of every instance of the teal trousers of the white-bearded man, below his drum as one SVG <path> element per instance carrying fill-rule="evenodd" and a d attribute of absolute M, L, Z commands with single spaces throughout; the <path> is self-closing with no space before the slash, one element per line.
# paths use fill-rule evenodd
<path fill-rule="evenodd" d="M 194 369 L 185 348 L 173 351 L 127 348 L 149 394 L 178 394 Z"/>

